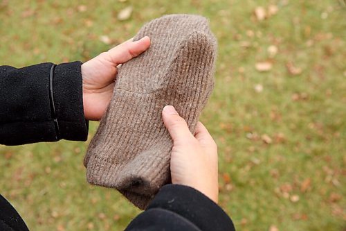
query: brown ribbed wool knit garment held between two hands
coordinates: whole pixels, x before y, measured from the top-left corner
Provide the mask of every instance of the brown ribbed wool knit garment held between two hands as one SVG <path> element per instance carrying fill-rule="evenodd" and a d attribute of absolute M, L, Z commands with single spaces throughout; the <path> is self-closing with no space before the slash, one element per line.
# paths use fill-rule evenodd
<path fill-rule="evenodd" d="M 208 20 L 197 15 L 154 19 L 134 40 L 145 35 L 152 44 L 118 69 L 113 99 L 84 158 L 88 182 L 118 189 L 141 209 L 170 182 L 163 107 L 173 105 L 194 133 L 214 86 L 217 48 Z"/>

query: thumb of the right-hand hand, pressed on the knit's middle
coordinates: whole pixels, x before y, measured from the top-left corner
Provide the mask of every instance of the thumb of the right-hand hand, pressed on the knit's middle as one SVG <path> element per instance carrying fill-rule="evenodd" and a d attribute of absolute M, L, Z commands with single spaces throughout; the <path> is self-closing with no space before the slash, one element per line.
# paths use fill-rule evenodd
<path fill-rule="evenodd" d="M 162 110 L 163 123 L 170 132 L 173 142 L 193 138 L 186 121 L 181 118 L 173 106 L 167 105 Z"/>

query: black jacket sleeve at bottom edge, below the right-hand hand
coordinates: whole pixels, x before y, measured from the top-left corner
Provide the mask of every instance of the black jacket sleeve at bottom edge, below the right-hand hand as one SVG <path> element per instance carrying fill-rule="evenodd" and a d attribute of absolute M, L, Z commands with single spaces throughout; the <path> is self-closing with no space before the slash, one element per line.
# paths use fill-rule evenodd
<path fill-rule="evenodd" d="M 201 192 L 183 185 L 165 185 L 127 231 L 235 230 L 224 210 Z"/>

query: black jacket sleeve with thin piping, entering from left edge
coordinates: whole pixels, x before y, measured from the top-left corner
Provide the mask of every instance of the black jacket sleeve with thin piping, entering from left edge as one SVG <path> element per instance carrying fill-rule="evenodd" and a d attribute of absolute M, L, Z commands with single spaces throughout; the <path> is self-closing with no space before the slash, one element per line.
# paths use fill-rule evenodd
<path fill-rule="evenodd" d="M 85 141 L 81 65 L 0 66 L 0 144 Z"/>

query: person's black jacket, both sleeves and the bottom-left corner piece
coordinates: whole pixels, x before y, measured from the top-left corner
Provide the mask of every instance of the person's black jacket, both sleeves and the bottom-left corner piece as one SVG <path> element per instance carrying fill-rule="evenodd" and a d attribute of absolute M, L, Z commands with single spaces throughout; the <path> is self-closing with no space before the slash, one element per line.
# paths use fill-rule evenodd
<path fill-rule="evenodd" d="M 0 66 L 0 144 L 85 141 L 81 62 Z M 0 230 L 28 230 L 0 195 Z M 165 185 L 126 230 L 235 230 L 217 204 L 183 185 Z"/>

